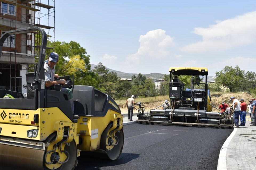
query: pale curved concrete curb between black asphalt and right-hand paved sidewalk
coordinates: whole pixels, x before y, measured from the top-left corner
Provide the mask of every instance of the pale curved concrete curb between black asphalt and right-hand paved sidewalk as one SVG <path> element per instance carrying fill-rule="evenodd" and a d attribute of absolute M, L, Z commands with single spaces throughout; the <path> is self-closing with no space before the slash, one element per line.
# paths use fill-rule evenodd
<path fill-rule="evenodd" d="M 217 170 L 227 170 L 227 147 L 231 139 L 234 137 L 235 133 L 237 132 L 237 128 L 234 128 L 233 132 L 229 135 L 227 140 L 223 143 L 221 147 L 221 151 L 219 152 L 219 159 L 218 159 L 218 167 Z"/>

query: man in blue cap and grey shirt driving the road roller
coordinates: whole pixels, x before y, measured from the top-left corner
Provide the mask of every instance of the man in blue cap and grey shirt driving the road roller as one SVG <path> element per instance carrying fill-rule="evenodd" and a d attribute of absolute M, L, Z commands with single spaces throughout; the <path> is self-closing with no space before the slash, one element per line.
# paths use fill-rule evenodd
<path fill-rule="evenodd" d="M 49 55 L 48 60 L 45 60 L 44 72 L 45 72 L 45 86 L 50 87 L 54 84 L 65 84 L 66 80 L 60 79 L 60 80 L 54 80 L 54 78 L 59 78 L 58 74 L 55 74 L 55 65 L 59 61 L 59 54 L 52 52 Z M 69 88 L 61 88 L 61 92 L 67 93 L 69 95 L 69 101 L 71 105 L 71 111 L 73 114 L 73 118 L 77 119 L 79 116 L 74 115 L 74 101 L 73 101 L 73 95 L 72 91 Z"/>

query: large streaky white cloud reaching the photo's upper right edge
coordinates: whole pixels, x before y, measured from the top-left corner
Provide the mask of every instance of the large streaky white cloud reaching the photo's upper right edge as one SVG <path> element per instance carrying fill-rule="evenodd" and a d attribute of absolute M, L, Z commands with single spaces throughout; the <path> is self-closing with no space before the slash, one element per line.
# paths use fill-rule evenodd
<path fill-rule="evenodd" d="M 186 45 L 185 52 L 207 52 L 231 49 L 256 42 L 256 11 L 235 18 L 217 21 L 208 28 L 194 28 L 202 41 Z"/>

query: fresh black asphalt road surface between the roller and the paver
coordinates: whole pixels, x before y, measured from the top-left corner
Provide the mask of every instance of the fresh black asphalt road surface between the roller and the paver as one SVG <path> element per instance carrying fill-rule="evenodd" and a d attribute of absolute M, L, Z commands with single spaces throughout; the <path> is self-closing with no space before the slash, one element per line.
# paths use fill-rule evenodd
<path fill-rule="evenodd" d="M 118 160 L 81 153 L 75 170 L 203 169 L 216 170 L 219 151 L 231 129 L 131 124 Z"/>

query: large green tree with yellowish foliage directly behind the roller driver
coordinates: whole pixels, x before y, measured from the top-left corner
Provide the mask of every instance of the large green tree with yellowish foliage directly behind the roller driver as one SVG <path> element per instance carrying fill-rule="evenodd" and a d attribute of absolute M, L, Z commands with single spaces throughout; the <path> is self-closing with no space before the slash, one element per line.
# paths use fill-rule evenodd
<path fill-rule="evenodd" d="M 52 42 L 48 42 L 48 44 L 49 47 L 53 47 Z M 59 54 L 59 61 L 55 68 L 57 74 L 61 76 L 74 74 L 75 84 L 94 86 L 95 88 L 98 87 L 99 78 L 96 74 L 90 71 L 90 56 L 87 55 L 85 48 L 81 47 L 80 44 L 75 41 L 70 41 L 69 43 L 55 41 L 54 49 L 55 52 Z M 46 59 L 50 52 L 52 51 L 48 50 Z M 75 62 L 74 56 L 76 56 Z"/>

